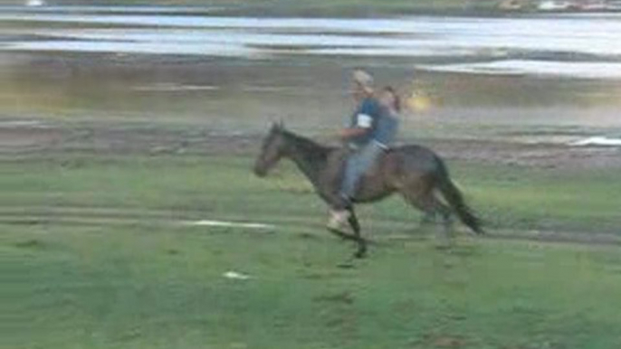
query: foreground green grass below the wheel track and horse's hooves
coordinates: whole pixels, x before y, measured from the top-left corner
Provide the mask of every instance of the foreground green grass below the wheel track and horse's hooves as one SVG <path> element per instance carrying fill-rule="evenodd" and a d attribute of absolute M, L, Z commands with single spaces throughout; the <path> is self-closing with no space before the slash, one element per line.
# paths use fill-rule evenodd
<path fill-rule="evenodd" d="M 617 248 L 0 226 L 7 348 L 618 348 Z M 234 270 L 248 280 L 223 278 Z"/>

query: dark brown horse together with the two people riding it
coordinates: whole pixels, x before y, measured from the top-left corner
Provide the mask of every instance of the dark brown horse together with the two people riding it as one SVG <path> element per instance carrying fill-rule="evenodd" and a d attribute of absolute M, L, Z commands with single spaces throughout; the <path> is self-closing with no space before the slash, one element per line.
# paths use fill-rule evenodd
<path fill-rule="evenodd" d="M 263 139 L 254 162 L 254 174 L 265 176 L 282 158 L 290 159 L 333 211 L 330 231 L 342 239 L 356 241 L 358 250 L 354 257 L 357 258 L 366 255 L 367 241 L 361 235 L 354 204 L 372 203 L 392 193 L 400 193 L 406 203 L 429 217 L 441 217 L 445 238 L 452 225 L 452 215 L 472 231 L 483 233 L 479 218 L 463 200 L 440 156 L 416 145 L 383 151 L 396 131 L 396 94 L 387 88 L 376 99 L 370 75 L 356 71 L 353 78 L 358 108 L 349 127 L 340 132 L 352 148 L 344 170 L 342 148 L 322 146 L 282 124 L 274 124 Z M 343 231 L 343 221 L 349 223 L 351 233 Z"/>

